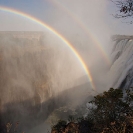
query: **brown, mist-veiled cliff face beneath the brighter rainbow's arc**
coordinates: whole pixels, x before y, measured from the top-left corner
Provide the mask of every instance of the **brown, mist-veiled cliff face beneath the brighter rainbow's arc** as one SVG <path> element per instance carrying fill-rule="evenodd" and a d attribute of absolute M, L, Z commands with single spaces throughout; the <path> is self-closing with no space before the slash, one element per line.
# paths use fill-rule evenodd
<path fill-rule="evenodd" d="M 55 109 L 88 97 L 88 78 L 78 80 L 84 75 L 70 49 L 45 35 L 0 32 L 0 131 L 19 121 L 18 132 L 28 132 Z"/>

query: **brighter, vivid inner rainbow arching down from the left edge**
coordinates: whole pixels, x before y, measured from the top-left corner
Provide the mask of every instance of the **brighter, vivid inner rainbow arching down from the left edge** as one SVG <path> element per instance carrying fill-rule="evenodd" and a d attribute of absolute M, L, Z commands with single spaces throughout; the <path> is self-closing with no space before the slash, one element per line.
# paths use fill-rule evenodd
<path fill-rule="evenodd" d="M 53 28 L 51 28 L 50 26 L 48 26 L 47 24 L 45 24 L 44 22 L 38 20 L 37 18 L 34 18 L 33 16 L 30 16 L 28 14 L 25 14 L 23 12 L 20 12 L 18 10 L 14 10 L 14 9 L 11 9 L 11 8 L 7 8 L 7 7 L 3 7 L 3 6 L 0 6 L 0 11 L 4 11 L 4 12 L 8 12 L 8 13 L 13 13 L 15 15 L 19 15 L 21 17 L 24 17 L 26 19 L 29 19 L 41 26 L 43 26 L 44 28 L 46 28 L 47 30 L 49 30 L 50 32 L 52 32 L 54 35 L 56 35 L 60 40 L 62 40 L 70 49 L 71 51 L 75 54 L 75 56 L 77 57 L 77 59 L 79 60 L 79 62 L 81 63 L 83 69 L 85 70 L 86 74 L 88 75 L 88 78 L 89 78 L 89 81 L 90 81 L 90 84 L 91 84 L 91 87 L 93 90 L 95 90 L 95 85 L 93 83 L 93 80 L 92 80 L 92 76 L 91 76 L 91 73 L 90 71 L 88 70 L 87 66 L 85 65 L 83 59 L 80 57 L 80 55 L 78 54 L 78 52 L 74 49 L 74 47 L 72 46 L 71 43 L 69 43 L 61 34 L 59 34 L 57 31 L 55 31 Z"/>

